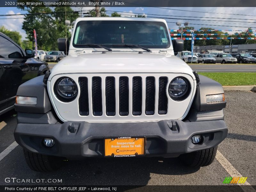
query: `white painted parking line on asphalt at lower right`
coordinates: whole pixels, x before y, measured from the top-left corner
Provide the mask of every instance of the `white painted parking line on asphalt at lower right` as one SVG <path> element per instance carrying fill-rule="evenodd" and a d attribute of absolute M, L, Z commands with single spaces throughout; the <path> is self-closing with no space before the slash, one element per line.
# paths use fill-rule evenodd
<path fill-rule="evenodd" d="M 241 173 L 239 173 L 236 168 L 226 159 L 219 150 L 216 153 L 216 159 L 220 162 L 221 166 L 228 172 L 231 177 L 243 177 Z M 248 181 L 245 183 L 237 183 L 245 192 L 256 192 L 256 190 L 252 186 L 244 185 L 251 185 Z"/>

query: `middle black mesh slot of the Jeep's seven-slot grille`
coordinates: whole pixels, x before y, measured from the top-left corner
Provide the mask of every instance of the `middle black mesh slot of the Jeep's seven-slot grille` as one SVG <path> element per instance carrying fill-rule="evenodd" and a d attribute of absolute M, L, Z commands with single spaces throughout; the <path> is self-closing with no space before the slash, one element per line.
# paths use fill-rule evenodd
<path fill-rule="evenodd" d="M 119 78 L 119 115 L 128 116 L 129 114 L 129 84 L 128 77 Z"/>

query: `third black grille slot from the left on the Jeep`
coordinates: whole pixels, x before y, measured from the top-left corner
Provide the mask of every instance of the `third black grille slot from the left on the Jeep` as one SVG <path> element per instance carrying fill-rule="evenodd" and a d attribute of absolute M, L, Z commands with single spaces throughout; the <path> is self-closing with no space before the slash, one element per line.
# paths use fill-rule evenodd
<path fill-rule="evenodd" d="M 106 77 L 106 115 L 116 115 L 115 77 Z"/>

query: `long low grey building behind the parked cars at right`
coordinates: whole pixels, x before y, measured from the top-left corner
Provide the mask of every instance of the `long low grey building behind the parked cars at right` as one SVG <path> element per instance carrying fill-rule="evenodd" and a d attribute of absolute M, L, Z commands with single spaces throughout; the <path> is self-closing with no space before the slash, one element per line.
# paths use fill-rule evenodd
<path fill-rule="evenodd" d="M 256 52 L 256 44 L 194 46 L 193 52 L 224 51 L 226 53 Z"/>

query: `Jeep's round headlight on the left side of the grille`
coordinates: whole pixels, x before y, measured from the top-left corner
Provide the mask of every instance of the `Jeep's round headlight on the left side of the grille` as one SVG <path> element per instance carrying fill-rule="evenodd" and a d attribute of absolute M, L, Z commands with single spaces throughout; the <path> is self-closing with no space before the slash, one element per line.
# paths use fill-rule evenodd
<path fill-rule="evenodd" d="M 69 77 L 61 77 L 54 85 L 55 95 L 64 102 L 70 102 L 77 96 L 76 82 Z"/>

